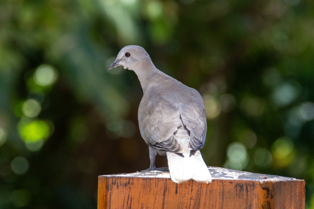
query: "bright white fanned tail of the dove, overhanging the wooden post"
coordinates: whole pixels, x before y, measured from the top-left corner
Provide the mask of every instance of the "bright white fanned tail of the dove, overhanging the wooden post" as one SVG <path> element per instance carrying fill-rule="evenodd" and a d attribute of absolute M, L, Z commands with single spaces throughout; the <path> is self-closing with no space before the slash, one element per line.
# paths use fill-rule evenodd
<path fill-rule="evenodd" d="M 190 179 L 207 183 L 212 181 L 199 150 L 192 155 L 190 155 L 190 152 L 182 153 L 182 155 L 167 152 L 167 159 L 171 180 L 176 183 Z"/>

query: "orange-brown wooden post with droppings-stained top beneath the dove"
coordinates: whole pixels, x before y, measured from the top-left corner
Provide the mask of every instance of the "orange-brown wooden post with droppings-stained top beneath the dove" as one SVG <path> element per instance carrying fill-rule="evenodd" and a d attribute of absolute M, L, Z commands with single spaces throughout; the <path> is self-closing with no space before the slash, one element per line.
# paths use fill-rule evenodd
<path fill-rule="evenodd" d="M 209 167 L 211 183 L 176 184 L 167 171 L 99 176 L 98 209 L 304 209 L 304 180 Z"/>

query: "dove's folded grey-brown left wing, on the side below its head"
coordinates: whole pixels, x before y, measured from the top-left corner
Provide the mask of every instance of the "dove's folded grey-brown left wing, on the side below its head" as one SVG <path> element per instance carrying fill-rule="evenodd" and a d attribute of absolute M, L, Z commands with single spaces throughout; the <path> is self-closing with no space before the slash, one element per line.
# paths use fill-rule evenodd
<path fill-rule="evenodd" d="M 144 95 L 138 108 L 142 137 L 155 149 L 181 153 L 182 147 L 174 136 L 181 124 L 178 102 L 153 92 L 148 95 L 149 99 Z"/>

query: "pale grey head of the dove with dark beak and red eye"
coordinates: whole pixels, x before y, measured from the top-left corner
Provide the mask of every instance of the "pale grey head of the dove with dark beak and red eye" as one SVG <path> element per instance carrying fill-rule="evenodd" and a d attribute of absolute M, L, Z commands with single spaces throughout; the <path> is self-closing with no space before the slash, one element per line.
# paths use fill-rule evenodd
<path fill-rule="evenodd" d="M 124 69 L 135 71 L 139 66 L 146 64 L 153 63 L 144 48 L 137 45 L 129 45 L 120 50 L 116 60 L 109 66 L 108 70 L 122 65 Z"/>

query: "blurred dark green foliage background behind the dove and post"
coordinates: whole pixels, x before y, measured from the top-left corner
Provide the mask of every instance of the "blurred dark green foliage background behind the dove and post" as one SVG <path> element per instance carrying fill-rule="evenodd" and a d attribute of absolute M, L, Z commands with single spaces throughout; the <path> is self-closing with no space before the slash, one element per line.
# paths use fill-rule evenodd
<path fill-rule="evenodd" d="M 314 208 L 313 37 L 311 0 L 1 1 L 0 208 L 96 208 L 98 175 L 148 168 L 138 79 L 107 71 L 130 44 L 203 96 L 207 165 L 305 179 Z"/>

